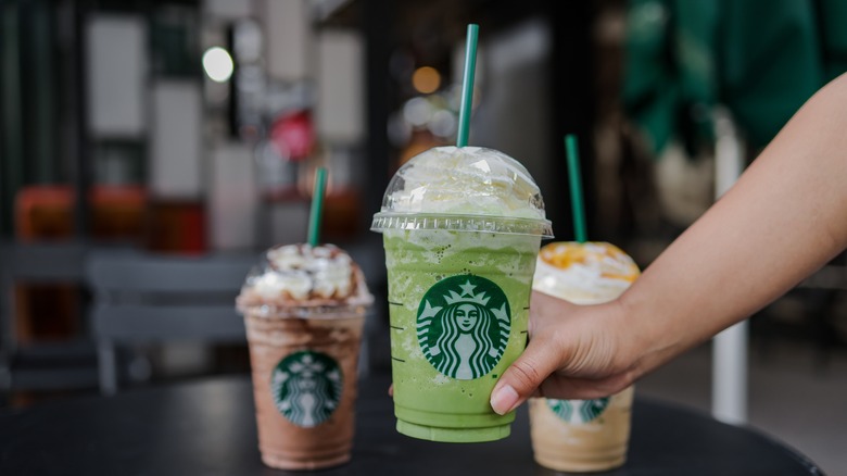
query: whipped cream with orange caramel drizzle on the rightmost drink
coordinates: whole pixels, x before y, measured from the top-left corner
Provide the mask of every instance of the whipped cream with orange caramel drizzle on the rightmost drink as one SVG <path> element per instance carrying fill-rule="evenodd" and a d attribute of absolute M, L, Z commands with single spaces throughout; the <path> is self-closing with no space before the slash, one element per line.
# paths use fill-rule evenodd
<path fill-rule="evenodd" d="M 532 288 L 574 303 L 598 303 L 620 296 L 639 275 L 632 258 L 614 245 L 560 241 L 542 247 Z"/>

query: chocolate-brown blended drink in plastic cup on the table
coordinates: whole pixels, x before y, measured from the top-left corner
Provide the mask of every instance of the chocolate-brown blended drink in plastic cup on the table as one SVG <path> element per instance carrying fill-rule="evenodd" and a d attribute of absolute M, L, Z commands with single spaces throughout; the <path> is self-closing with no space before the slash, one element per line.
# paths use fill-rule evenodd
<path fill-rule="evenodd" d="M 262 461 L 317 469 L 350 461 L 363 324 L 374 298 L 332 245 L 267 251 L 237 299 L 244 316 Z"/>

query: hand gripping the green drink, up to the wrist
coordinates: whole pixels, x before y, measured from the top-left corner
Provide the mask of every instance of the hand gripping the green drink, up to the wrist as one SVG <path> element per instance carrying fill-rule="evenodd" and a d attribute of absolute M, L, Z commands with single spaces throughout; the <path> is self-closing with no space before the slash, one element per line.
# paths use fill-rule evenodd
<path fill-rule="evenodd" d="M 623 314 L 617 301 L 576 305 L 534 291 L 529 345 L 497 381 L 491 406 L 502 415 L 529 397 L 593 399 L 628 387 L 635 372 Z"/>

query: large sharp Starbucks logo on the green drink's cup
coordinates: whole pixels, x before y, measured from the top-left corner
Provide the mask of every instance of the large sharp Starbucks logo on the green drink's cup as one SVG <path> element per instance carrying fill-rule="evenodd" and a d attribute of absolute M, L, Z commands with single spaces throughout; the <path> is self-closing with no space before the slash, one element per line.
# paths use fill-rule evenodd
<path fill-rule="evenodd" d="M 429 288 L 418 306 L 418 343 L 442 374 L 479 378 L 506 351 L 511 312 L 503 290 L 480 276 L 463 275 Z"/>

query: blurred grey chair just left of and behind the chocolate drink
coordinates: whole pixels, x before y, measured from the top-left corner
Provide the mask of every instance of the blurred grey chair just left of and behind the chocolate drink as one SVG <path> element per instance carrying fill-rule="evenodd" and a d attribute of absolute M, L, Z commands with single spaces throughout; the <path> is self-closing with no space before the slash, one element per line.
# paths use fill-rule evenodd
<path fill-rule="evenodd" d="M 246 343 L 235 299 L 258 254 L 207 256 L 93 252 L 86 280 L 100 390 L 118 389 L 116 346 L 198 341 Z"/>

